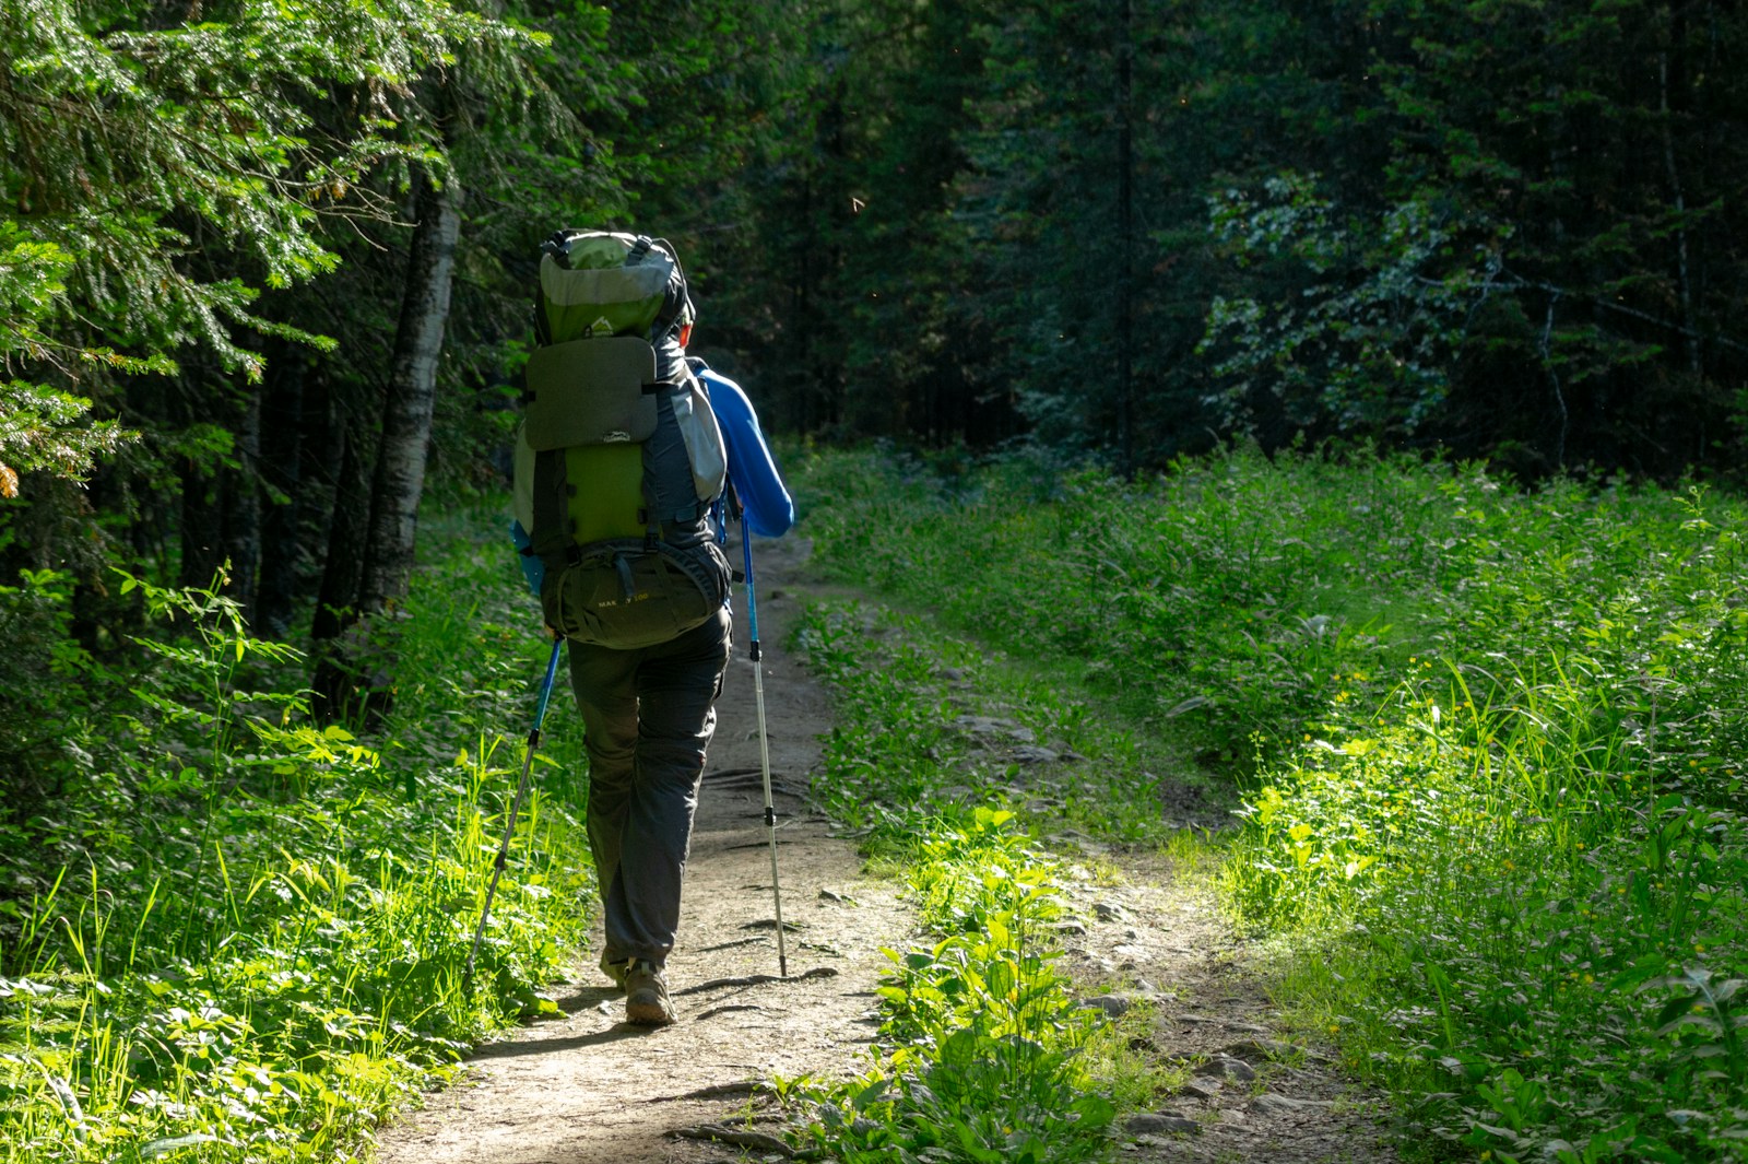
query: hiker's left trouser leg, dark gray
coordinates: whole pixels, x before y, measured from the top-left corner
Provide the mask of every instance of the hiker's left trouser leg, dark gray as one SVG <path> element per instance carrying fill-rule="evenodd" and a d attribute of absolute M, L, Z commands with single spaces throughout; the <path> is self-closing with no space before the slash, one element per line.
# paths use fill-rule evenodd
<path fill-rule="evenodd" d="M 601 961 L 631 958 L 626 933 L 614 926 L 624 907 L 607 907 L 619 886 L 619 853 L 631 811 L 631 785 L 636 771 L 638 690 L 636 668 L 642 652 L 608 650 L 587 643 L 570 643 L 570 687 L 582 713 L 584 748 L 589 755 L 589 849 L 601 890 L 607 942 Z"/>

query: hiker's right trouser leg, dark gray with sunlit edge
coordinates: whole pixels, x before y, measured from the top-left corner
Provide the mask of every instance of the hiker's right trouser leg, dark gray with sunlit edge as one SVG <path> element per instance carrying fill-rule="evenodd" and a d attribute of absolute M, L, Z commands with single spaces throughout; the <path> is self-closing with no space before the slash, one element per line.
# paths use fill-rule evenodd
<path fill-rule="evenodd" d="M 729 638 L 731 619 L 722 610 L 671 643 L 647 648 L 638 666 L 638 774 L 619 881 L 629 953 L 657 967 L 680 926 L 680 883 Z"/>

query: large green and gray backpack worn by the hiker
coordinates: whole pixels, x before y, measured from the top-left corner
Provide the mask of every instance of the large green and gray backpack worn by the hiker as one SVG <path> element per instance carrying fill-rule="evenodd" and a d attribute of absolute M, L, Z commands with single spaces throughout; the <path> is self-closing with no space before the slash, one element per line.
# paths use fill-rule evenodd
<path fill-rule="evenodd" d="M 545 622 L 573 641 L 650 647 L 729 599 L 708 521 L 724 442 L 685 364 L 690 323 L 671 245 L 607 231 L 542 245 L 516 519 L 544 566 Z"/>

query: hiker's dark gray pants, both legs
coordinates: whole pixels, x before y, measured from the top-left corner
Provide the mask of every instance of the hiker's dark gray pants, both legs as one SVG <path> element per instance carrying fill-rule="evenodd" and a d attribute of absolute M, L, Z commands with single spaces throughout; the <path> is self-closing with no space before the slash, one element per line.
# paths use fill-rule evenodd
<path fill-rule="evenodd" d="M 605 961 L 662 965 L 673 951 L 731 633 L 729 612 L 720 610 L 638 650 L 570 643 L 570 685 L 589 753 L 587 821 L 607 919 Z"/>

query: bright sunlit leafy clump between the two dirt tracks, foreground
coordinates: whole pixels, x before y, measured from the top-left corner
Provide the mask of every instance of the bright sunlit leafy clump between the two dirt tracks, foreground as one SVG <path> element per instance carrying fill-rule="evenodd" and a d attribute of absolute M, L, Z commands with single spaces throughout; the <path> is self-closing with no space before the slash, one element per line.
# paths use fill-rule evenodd
<path fill-rule="evenodd" d="M 1077 1050 L 1101 1022 L 1051 968 L 1052 869 L 977 809 L 937 825 L 911 884 L 940 942 L 898 954 L 879 987 L 874 1066 L 848 1084 L 785 1085 L 809 1117 L 802 1145 L 841 1161 L 996 1164 L 1106 1155 L 1115 1115 Z"/>

